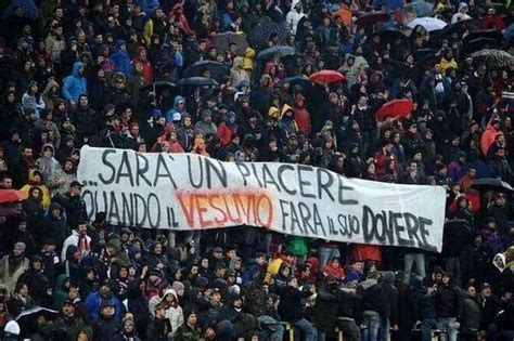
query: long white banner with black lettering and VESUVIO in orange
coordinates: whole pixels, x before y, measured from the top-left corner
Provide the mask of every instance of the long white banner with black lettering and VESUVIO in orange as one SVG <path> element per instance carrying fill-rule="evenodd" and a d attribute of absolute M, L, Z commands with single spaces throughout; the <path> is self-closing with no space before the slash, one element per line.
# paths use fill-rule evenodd
<path fill-rule="evenodd" d="M 195 154 L 80 153 L 88 218 L 200 229 L 264 226 L 290 235 L 440 251 L 445 189 L 348 179 L 290 163 L 221 162 Z"/>

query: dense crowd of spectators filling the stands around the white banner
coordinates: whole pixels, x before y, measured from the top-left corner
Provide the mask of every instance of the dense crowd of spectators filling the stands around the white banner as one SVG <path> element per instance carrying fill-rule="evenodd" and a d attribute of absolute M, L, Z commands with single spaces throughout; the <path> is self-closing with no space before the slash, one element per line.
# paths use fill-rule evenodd
<path fill-rule="evenodd" d="M 1 339 L 514 340 L 511 1 L 0 3 Z M 444 250 L 88 221 L 82 145 L 444 186 Z"/>

